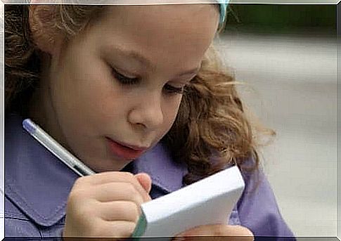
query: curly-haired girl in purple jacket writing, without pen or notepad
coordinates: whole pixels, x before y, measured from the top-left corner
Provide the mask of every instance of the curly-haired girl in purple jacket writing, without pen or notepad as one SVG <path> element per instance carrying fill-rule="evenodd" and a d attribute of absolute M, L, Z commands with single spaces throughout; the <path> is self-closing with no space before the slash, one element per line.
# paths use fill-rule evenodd
<path fill-rule="evenodd" d="M 211 58 L 220 10 L 6 6 L 6 236 L 129 237 L 143 202 L 231 164 L 246 188 L 229 221 L 179 236 L 292 236 L 234 79 Z M 26 117 L 97 174 L 78 178 Z"/>

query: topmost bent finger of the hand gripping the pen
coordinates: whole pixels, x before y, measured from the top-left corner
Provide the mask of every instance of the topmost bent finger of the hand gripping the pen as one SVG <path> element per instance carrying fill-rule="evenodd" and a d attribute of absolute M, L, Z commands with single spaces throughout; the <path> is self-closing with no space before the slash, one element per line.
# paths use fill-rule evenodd
<path fill-rule="evenodd" d="M 139 191 L 141 196 L 143 197 L 143 201 L 147 202 L 150 200 L 150 197 L 148 193 L 146 193 L 146 190 L 142 187 L 142 185 L 137 181 L 137 178 L 129 173 L 129 172 L 121 172 L 121 171 L 108 171 L 103 172 L 100 174 L 94 174 L 90 176 L 84 176 L 82 178 L 78 178 L 74 188 L 82 188 L 82 189 L 88 189 L 89 185 L 103 185 L 105 183 L 131 183 L 134 185 L 136 190 Z"/>

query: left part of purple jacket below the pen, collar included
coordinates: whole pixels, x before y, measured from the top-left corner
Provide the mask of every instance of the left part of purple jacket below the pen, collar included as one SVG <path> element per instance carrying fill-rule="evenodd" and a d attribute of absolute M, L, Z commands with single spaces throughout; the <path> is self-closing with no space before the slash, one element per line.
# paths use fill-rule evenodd
<path fill-rule="evenodd" d="M 67 196 L 77 175 L 22 129 L 5 120 L 5 235 L 60 235 Z"/>

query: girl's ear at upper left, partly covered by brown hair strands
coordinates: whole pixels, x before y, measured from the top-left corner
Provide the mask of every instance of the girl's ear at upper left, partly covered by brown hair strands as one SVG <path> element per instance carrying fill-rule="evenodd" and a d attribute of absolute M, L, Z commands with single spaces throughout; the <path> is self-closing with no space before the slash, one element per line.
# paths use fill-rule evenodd
<path fill-rule="evenodd" d="M 46 53 L 56 54 L 62 33 L 55 27 L 56 5 L 30 5 L 29 24 L 34 44 Z"/>

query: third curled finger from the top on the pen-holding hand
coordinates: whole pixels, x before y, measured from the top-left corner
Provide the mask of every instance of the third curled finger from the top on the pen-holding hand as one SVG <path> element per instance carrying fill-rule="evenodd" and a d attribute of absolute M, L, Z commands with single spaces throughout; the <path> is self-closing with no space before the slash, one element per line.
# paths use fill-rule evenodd
<path fill-rule="evenodd" d="M 113 201 L 101 203 L 98 216 L 104 221 L 131 221 L 137 223 L 141 209 L 135 202 Z"/>

